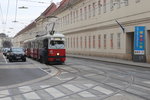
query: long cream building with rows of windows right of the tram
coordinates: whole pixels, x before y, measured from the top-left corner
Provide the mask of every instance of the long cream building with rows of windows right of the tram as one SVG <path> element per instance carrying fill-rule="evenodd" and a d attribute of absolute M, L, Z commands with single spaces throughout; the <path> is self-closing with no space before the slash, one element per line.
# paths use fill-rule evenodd
<path fill-rule="evenodd" d="M 58 17 L 57 30 L 65 34 L 71 54 L 132 60 L 134 28 L 145 26 L 150 62 L 149 4 L 150 0 L 63 0 L 52 15 Z"/>

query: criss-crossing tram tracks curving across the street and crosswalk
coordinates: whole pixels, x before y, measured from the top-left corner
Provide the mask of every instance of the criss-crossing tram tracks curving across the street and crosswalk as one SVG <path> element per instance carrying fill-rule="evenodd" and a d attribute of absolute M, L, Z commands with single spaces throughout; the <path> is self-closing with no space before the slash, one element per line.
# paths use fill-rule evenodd
<path fill-rule="evenodd" d="M 78 66 L 80 66 L 82 64 L 78 64 Z M 70 71 L 70 70 L 66 70 L 66 69 L 63 69 L 65 67 L 69 67 L 73 70 L 75 70 L 74 72 L 73 71 Z M 128 88 L 130 88 L 133 84 L 135 84 L 135 76 L 133 75 L 133 73 L 129 73 L 129 72 L 126 72 L 126 71 L 122 71 L 120 69 L 120 74 L 124 74 L 124 75 L 128 75 L 128 77 L 130 77 L 130 80 L 128 81 L 125 81 L 125 80 L 122 80 L 120 78 L 116 78 L 116 77 L 113 77 L 113 76 L 110 76 L 110 70 L 106 70 L 106 69 L 103 69 L 103 68 L 97 68 L 97 67 L 93 67 L 93 66 L 90 66 L 90 65 L 84 65 L 83 66 L 86 66 L 88 68 L 91 68 L 91 69 L 94 69 L 94 70 L 97 70 L 97 71 L 101 71 L 103 73 L 96 73 L 95 75 L 102 75 L 104 76 L 105 78 L 103 78 L 103 80 L 101 81 L 97 81 L 95 79 L 91 79 L 89 77 L 86 77 L 80 73 L 82 73 L 83 71 L 86 71 L 88 72 L 87 70 L 83 70 L 82 68 L 76 68 L 76 67 L 73 67 L 71 64 L 66 64 L 66 65 L 52 65 L 53 68 L 56 68 L 58 70 L 58 73 L 55 74 L 54 76 L 52 76 L 51 78 L 53 77 L 56 77 L 56 76 L 60 76 L 61 73 L 63 72 L 67 72 L 67 73 L 70 73 L 70 74 L 73 74 L 74 77 L 72 79 L 69 79 L 69 80 L 65 80 L 61 83 L 58 83 L 58 84 L 55 84 L 55 85 L 51 85 L 51 86 L 48 86 L 48 87 L 45 87 L 45 88 L 39 88 L 39 89 L 34 89 L 32 91 L 28 91 L 28 92 L 21 92 L 21 93 L 16 93 L 16 94 L 13 94 L 13 95 L 7 95 L 7 96 L 4 96 L 4 97 L 0 97 L 0 98 L 5 98 L 5 97 L 13 97 L 13 96 L 17 96 L 17 95 L 22 95 L 22 94 L 26 94 L 26 93 L 31 93 L 31 92 L 36 92 L 36 91 L 41 91 L 41 90 L 45 90 L 45 89 L 48 89 L 48 88 L 51 88 L 51 87 L 56 87 L 56 86 L 59 86 L 59 85 L 63 85 L 63 84 L 66 84 L 66 83 L 69 83 L 69 82 L 72 82 L 72 81 L 75 81 L 77 78 L 81 77 L 81 78 L 84 78 L 84 79 L 87 79 L 87 80 L 90 80 L 90 81 L 93 81 L 93 82 L 96 82 L 97 84 L 92 86 L 92 87 L 88 87 L 86 89 L 82 89 L 81 91 L 78 91 L 78 92 L 73 92 L 73 93 L 69 93 L 69 94 L 66 94 L 65 96 L 62 96 L 62 97 L 58 97 L 58 98 L 54 98 L 52 100 L 58 100 L 58 99 L 61 99 L 61 98 L 65 98 L 65 97 L 68 97 L 68 96 L 72 96 L 72 95 L 75 95 L 75 94 L 78 94 L 78 93 L 81 93 L 81 92 L 84 92 L 84 91 L 88 91 L 90 89 L 93 89 L 101 84 L 107 86 L 107 87 L 111 87 L 111 88 L 114 88 L 116 89 L 116 91 L 114 91 L 112 94 L 109 94 L 109 95 L 105 95 L 105 96 L 102 96 L 100 99 L 98 100 L 104 100 L 104 99 L 107 99 L 109 97 L 112 97 L 118 93 L 121 93 L 121 92 L 126 92 L 126 93 L 129 93 L 129 94 L 133 94 L 137 97 L 140 97 L 140 98 L 144 98 L 146 100 L 149 100 L 149 98 L 147 97 L 144 97 L 144 96 L 141 96 L 141 95 L 138 95 L 136 93 L 133 93 L 133 92 L 130 92 L 130 91 L 127 91 Z M 45 68 L 43 68 L 43 70 L 49 70 L 49 65 L 46 65 Z M 92 73 L 91 71 L 89 71 L 89 73 Z M 93 71 L 94 73 L 94 71 Z M 114 72 L 115 73 L 115 72 Z M 46 80 L 50 80 L 51 78 L 49 79 L 46 79 Z M 106 84 L 105 82 L 108 80 L 108 79 L 116 79 L 116 80 L 120 80 L 120 81 L 125 81 L 126 83 L 128 83 L 126 86 L 124 86 L 123 88 L 118 88 L 118 87 L 114 87 L 112 85 L 109 85 L 109 84 Z M 46 81 L 46 80 L 42 80 L 42 81 L 39 81 L 39 82 L 43 82 L 43 81 Z M 38 82 L 38 83 L 39 83 Z M 29 84 L 28 84 L 29 85 Z"/>

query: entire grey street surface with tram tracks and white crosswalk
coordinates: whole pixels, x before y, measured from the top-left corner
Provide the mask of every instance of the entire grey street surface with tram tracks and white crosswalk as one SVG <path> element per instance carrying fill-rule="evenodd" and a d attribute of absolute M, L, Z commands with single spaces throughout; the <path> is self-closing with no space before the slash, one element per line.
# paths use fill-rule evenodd
<path fill-rule="evenodd" d="M 0 58 L 0 100 L 150 100 L 149 68 L 80 58 L 63 65 Z"/>

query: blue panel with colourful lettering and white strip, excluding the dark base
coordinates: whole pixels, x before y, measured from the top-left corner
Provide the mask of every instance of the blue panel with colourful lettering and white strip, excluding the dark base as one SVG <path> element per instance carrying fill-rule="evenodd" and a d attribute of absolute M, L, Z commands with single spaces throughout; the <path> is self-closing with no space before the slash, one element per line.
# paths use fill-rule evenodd
<path fill-rule="evenodd" d="M 134 54 L 145 55 L 145 26 L 135 27 Z"/>

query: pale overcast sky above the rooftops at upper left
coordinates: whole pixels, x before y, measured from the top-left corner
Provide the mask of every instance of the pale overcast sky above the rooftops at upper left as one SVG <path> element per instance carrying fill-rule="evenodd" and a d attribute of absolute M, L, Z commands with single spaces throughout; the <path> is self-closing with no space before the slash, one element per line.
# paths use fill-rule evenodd
<path fill-rule="evenodd" d="M 51 3 L 61 0 L 0 0 L 0 33 L 13 37 L 36 19 Z M 17 4 L 17 10 L 16 10 Z M 19 9 L 19 7 L 28 9 Z M 17 22 L 13 22 L 13 21 Z"/>

